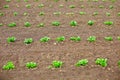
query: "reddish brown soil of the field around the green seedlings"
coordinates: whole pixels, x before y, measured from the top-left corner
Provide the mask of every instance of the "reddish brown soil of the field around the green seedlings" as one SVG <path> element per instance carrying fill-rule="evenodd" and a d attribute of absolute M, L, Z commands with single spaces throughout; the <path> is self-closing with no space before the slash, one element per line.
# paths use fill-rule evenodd
<path fill-rule="evenodd" d="M 43 3 L 45 7 L 38 8 L 38 4 Z M 9 4 L 9 9 L 4 9 L 3 5 Z M 26 4 L 31 4 L 30 9 L 25 8 Z M 63 8 L 59 5 L 63 4 Z M 74 4 L 76 8 L 70 9 L 69 5 Z M 19 7 L 16 7 L 18 5 Z M 53 7 L 49 7 L 52 5 Z M 80 8 L 84 5 L 84 8 Z M 98 8 L 104 5 L 105 8 Z M 114 9 L 109 9 L 109 5 L 113 5 Z M 91 8 L 90 6 L 94 6 Z M 19 12 L 18 16 L 13 16 L 13 12 Z M 38 16 L 40 11 L 44 11 L 44 16 Z M 53 15 L 53 12 L 61 11 L 60 16 Z M 85 11 L 87 14 L 80 16 L 79 11 Z M 94 11 L 98 11 L 99 15 L 92 16 Z M 107 2 L 80 2 L 79 0 L 65 2 L 53 2 L 53 0 L 39 0 L 35 2 L 5 2 L 0 0 L 0 12 L 4 12 L 4 16 L 0 16 L 0 23 L 4 26 L 0 27 L 0 78 L 2 80 L 120 80 L 120 68 L 117 65 L 120 60 L 120 41 L 116 37 L 120 35 L 120 17 L 117 13 L 120 11 L 120 1 L 116 3 Z M 28 16 L 23 16 L 24 12 L 28 12 Z M 74 12 L 73 16 L 66 16 L 65 13 Z M 111 16 L 105 13 L 110 12 Z M 60 21 L 59 27 L 51 25 L 52 21 Z M 76 20 L 77 27 L 70 27 L 69 22 Z M 95 20 L 93 26 L 88 26 L 88 20 Z M 105 26 L 106 20 L 112 20 L 114 25 Z M 24 27 L 24 22 L 32 23 L 31 27 Z M 10 22 L 16 22 L 17 27 L 10 28 L 7 26 Z M 45 27 L 38 28 L 37 24 L 45 23 Z M 88 43 L 87 37 L 94 35 L 97 41 Z M 6 38 L 15 36 L 17 41 L 8 44 Z M 39 39 L 43 36 L 52 38 L 48 43 L 40 43 Z M 66 41 L 54 45 L 55 38 L 65 36 Z M 69 37 L 81 36 L 82 41 L 71 42 Z M 105 36 L 113 36 L 114 40 L 105 41 Z M 33 38 L 34 42 L 30 45 L 23 43 L 25 38 Z M 102 68 L 95 65 L 95 59 L 98 57 L 108 58 L 108 66 Z M 85 67 L 75 67 L 74 64 L 79 59 L 88 59 L 89 63 Z M 2 66 L 7 61 L 13 61 L 16 65 L 14 70 L 2 70 Z M 47 67 L 53 60 L 61 60 L 64 65 L 58 69 L 48 69 Z M 28 61 L 35 61 L 38 67 L 29 70 L 25 67 Z M 6 78 L 6 79 L 5 79 Z"/>

